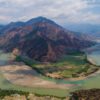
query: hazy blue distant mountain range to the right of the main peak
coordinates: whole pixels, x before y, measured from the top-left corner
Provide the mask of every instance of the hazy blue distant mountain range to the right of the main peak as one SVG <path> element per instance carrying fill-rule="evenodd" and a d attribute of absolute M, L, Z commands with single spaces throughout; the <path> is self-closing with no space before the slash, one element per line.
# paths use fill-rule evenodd
<path fill-rule="evenodd" d="M 84 33 L 94 39 L 100 39 L 100 24 L 67 24 L 64 27 L 75 32 Z"/>

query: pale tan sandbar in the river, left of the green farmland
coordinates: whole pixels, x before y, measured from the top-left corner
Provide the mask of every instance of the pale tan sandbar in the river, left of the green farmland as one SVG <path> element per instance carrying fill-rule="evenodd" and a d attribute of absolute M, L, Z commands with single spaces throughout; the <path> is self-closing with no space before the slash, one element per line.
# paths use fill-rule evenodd
<path fill-rule="evenodd" d="M 8 81 L 17 85 L 52 89 L 69 89 L 73 86 L 71 84 L 57 84 L 43 80 L 35 70 L 24 64 L 1 66 L 0 70 Z"/>

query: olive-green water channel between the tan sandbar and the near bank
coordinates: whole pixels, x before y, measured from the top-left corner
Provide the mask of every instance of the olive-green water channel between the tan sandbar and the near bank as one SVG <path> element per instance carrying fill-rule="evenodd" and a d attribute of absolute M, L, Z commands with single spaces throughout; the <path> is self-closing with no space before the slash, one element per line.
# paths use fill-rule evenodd
<path fill-rule="evenodd" d="M 2 75 L 2 73 L 0 73 L 0 89 L 25 91 L 25 92 L 30 92 L 38 95 L 43 95 L 43 96 L 50 95 L 50 96 L 57 96 L 57 97 L 66 97 L 69 92 L 63 89 L 33 88 L 33 87 L 14 85 L 9 81 L 7 81 Z"/>

